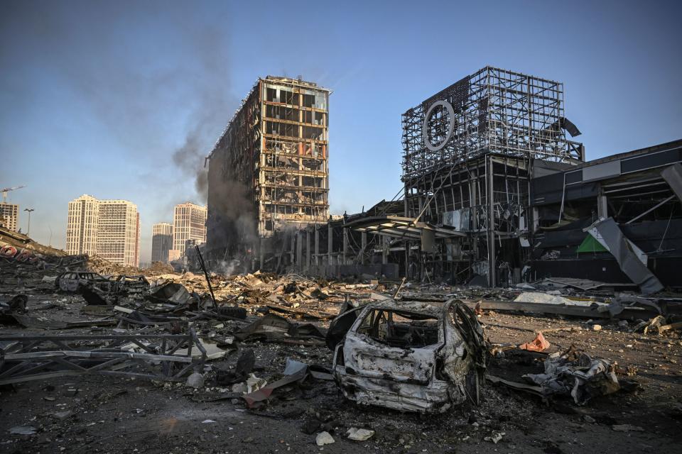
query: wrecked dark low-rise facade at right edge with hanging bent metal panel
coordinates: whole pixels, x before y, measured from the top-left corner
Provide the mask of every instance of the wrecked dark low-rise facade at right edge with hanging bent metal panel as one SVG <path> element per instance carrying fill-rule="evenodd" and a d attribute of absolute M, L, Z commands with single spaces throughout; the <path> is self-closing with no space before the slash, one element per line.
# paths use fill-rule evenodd
<path fill-rule="evenodd" d="M 529 279 L 634 282 L 644 293 L 678 287 L 682 260 L 682 140 L 531 180 Z"/>

